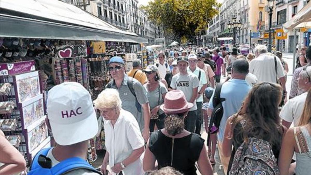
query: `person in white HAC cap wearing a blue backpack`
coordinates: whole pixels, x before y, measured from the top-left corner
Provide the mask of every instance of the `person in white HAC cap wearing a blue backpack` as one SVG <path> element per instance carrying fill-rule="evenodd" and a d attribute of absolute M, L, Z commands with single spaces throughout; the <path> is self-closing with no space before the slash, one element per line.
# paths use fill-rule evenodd
<path fill-rule="evenodd" d="M 49 90 L 47 126 L 57 145 L 40 150 L 28 175 L 98 175 L 86 162 L 89 139 L 98 132 L 90 93 L 77 82 L 65 82 Z"/>

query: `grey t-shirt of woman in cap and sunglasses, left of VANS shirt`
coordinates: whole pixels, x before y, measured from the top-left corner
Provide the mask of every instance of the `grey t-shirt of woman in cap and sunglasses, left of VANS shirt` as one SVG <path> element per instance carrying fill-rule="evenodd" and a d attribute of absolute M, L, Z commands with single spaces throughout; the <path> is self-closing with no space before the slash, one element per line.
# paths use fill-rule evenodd
<path fill-rule="evenodd" d="M 147 84 L 143 85 L 146 92 L 147 97 L 150 105 L 150 109 L 152 110 L 154 107 L 158 106 L 159 104 L 162 104 L 164 102 L 164 99 L 162 98 L 162 95 L 167 92 L 167 89 L 165 85 L 162 82 L 159 82 L 159 86 L 154 91 L 148 91 Z M 159 97 L 160 92 L 160 97 Z M 159 109 L 159 114 L 163 114 L 164 112 Z"/>

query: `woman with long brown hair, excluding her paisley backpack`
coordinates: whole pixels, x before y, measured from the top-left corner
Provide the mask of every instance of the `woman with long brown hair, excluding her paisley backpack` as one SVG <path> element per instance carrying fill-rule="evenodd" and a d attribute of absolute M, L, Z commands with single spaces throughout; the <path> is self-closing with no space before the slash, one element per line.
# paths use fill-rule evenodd
<path fill-rule="evenodd" d="M 235 151 L 248 138 L 266 140 L 272 146 L 276 159 L 279 157 L 282 137 L 286 128 L 281 125 L 279 104 L 282 87 L 274 83 L 258 83 L 248 93 L 239 112 L 227 120 L 223 154 L 230 157 L 230 172 Z M 233 150 L 232 150 L 233 145 Z"/>

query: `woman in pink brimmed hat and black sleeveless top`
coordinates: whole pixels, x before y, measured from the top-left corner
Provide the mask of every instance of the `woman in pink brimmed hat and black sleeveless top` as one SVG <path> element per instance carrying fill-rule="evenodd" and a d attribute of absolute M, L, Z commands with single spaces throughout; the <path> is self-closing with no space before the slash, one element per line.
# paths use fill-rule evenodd
<path fill-rule="evenodd" d="M 170 166 L 184 175 L 196 175 L 197 162 L 202 175 L 213 174 L 204 140 L 184 129 L 184 119 L 192 106 L 193 103 L 187 102 L 182 91 L 166 93 L 164 104 L 160 106 L 167 115 L 165 126 L 150 135 L 143 160 L 145 171 Z"/>

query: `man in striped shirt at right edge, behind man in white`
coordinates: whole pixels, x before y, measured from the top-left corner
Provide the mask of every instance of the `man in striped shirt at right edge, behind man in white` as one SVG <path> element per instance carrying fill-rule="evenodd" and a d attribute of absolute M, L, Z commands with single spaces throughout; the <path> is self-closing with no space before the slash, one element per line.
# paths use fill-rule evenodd
<path fill-rule="evenodd" d="M 311 46 L 308 47 L 307 51 L 306 51 L 306 58 L 307 58 L 307 62 L 308 64 L 305 66 L 311 66 Z M 292 82 L 290 85 L 290 99 L 296 97 L 297 95 L 301 95 L 304 92 L 304 89 L 301 89 L 298 87 L 298 77 L 300 72 L 304 69 L 304 67 L 299 67 L 297 69 L 295 69 L 294 73 L 293 73 L 293 77 L 292 77 Z"/>

